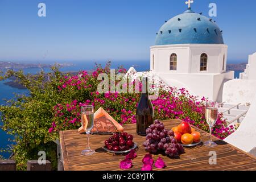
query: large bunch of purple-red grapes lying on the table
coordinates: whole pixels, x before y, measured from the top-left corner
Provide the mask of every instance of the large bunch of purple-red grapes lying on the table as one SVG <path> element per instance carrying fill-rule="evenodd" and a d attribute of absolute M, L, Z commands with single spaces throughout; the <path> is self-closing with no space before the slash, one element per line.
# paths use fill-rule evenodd
<path fill-rule="evenodd" d="M 146 142 L 143 142 L 143 146 L 147 152 L 155 154 L 158 151 L 164 151 L 170 157 L 184 153 L 183 146 L 174 138 L 174 131 L 165 129 L 159 120 L 155 120 L 146 133 Z"/>

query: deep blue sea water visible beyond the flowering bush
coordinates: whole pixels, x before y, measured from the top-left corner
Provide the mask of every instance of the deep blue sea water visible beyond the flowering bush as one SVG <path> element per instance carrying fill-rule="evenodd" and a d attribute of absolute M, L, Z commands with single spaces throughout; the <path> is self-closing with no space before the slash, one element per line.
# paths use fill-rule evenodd
<path fill-rule="evenodd" d="M 68 62 L 72 63 L 73 65 L 70 67 L 64 67 L 61 68 L 60 70 L 63 72 L 77 72 L 81 70 L 92 70 L 95 66 L 95 63 L 101 64 L 104 66 L 106 64 L 106 61 L 76 61 L 76 62 Z M 23 62 L 26 63 L 26 62 Z M 31 63 L 31 61 L 27 62 Z M 36 63 L 34 61 L 33 63 Z M 46 63 L 45 64 L 52 64 Z M 54 62 L 53 62 L 54 63 Z M 64 62 L 58 62 L 60 64 L 63 64 Z M 120 65 L 123 65 L 124 68 L 129 69 L 130 67 L 134 67 L 137 71 L 148 71 L 150 69 L 150 63 L 149 61 L 112 61 L 112 67 L 117 69 Z M 4 71 L 4 70 L 3 70 Z M 44 69 L 45 72 L 49 72 L 50 69 L 46 68 Z M 31 73 L 31 74 L 36 74 L 40 72 L 39 68 L 32 68 L 32 69 L 23 69 L 24 73 Z M 235 78 L 239 78 L 240 72 L 235 72 Z M 5 85 L 5 82 L 8 82 L 10 80 L 5 80 L 5 81 L 0 81 L 0 105 L 5 105 L 5 100 L 11 100 L 14 98 L 15 94 L 28 94 L 27 90 L 24 89 L 17 89 L 17 88 L 12 88 L 8 85 Z M 2 126 L 2 122 L 0 119 L 0 126 Z M 1 149 L 3 148 L 8 148 L 12 143 L 10 139 L 13 139 L 11 135 L 7 135 L 5 131 L 0 129 L 0 155 L 3 156 L 3 158 L 8 159 L 9 156 L 11 155 L 10 153 L 7 152 L 1 152 Z"/>

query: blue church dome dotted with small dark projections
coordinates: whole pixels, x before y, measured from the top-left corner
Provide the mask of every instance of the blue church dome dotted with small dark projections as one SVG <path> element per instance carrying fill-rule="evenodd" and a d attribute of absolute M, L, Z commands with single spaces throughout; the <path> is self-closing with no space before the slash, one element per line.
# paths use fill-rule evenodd
<path fill-rule="evenodd" d="M 222 31 L 212 19 L 187 10 L 160 28 L 155 46 L 170 44 L 224 44 L 224 41 Z"/>

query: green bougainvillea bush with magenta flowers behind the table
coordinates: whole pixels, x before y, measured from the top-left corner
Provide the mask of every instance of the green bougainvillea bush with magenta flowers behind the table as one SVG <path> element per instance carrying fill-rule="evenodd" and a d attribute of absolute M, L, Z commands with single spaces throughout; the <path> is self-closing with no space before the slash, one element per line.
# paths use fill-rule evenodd
<path fill-rule="evenodd" d="M 13 148 L 18 169 L 26 169 L 27 160 L 38 159 L 39 151 L 46 151 L 47 159 L 56 168 L 56 145 L 59 131 L 78 129 L 81 126 L 80 109 L 93 105 L 95 110 L 103 107 L 112 117 L 125 125 L 136 123 L 136 107 L 141 94 L 105 92 L 97 90 L 100 73 L 110 77 L 110 63 L 104 68 L 96 65 L 93 71 L 61 73 L 57 67 L 52 72 L 24 75 L 21 71 L 8 71 L 2 79 L 17 77 L 18 82 L 30 91 L 28 96 L 16 96 L 2 112 L 2 129 L 15 136 Z M 122 67 L 115 73 L 126 73 Z M 128 84 L 128 83 L 127 83 Z M 141 86 L 140 86 L 141 90 Z M 185 89 L 164 89 L 159 84 L 159 97 L 152 101 L 155 119 L 179 118 L 200 129 L 209 131 L 205 122 L 205 98 L 197 98 Z M 223 139 L 234 132 L 219 115 L 213 134 Z"/>

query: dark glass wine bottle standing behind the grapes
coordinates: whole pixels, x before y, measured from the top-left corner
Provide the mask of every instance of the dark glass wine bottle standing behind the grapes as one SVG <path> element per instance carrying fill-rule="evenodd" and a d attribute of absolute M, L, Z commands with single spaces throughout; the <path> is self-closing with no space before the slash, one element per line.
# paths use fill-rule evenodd
<path fill-rule="evenodd" d="M 146 129 L 154 123 L 154 109 L 152 106 L 152 102 L 148 99 L 147 81 L 148 78 L 144 77 L 142 81 L 143 89 L 141 94 L 141 100 L 139 101 L 136 111 L 137 134 L 142 136 L 146 136 Z"/>

